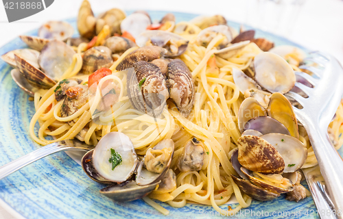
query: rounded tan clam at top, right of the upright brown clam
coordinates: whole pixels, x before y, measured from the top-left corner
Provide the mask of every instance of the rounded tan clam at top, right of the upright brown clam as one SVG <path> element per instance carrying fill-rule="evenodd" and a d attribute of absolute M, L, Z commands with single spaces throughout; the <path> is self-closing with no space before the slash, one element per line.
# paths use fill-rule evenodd
<path fill-rule="evenodd" d="M 105 25 L 110 27 L 110 36 L 113 34 L 121 34 L 121 22 L 126 18 L 125 12 L 120 10 L 119 8 L 112 8 L 101 14 L 96 23 L 96 33 L 99 34 L 104 28 Z"/>

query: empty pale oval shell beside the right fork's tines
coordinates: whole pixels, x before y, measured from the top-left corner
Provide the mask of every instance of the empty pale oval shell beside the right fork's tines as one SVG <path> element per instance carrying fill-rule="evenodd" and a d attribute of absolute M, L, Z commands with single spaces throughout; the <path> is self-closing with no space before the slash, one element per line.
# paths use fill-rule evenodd
<path fill-rule="evenodd" d="M 255 56 L 255 80 L 269 92 L 286 93 L 294 87 L 296 75 L 289 64 L 274 53 L 259 53 Z"/>

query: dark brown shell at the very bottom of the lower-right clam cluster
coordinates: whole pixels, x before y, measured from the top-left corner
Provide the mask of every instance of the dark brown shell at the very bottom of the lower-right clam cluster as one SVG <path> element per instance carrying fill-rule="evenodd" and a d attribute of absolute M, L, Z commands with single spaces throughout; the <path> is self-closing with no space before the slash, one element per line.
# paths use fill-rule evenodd
<path fill-rule="evenodd" d="M 256 185 L 253 185 L 250 183 L 250 181 L 245 179 L 239 179 L 235 177 L 234 175 L 231 175 L 233 178 L 233 181 L 238 185 L 238 187 L 244 192 L 245 194 L 248 194 L 248 196 L 259 200 L 259 201 L 270 201 L 274 198 L 277 198 L 280 196 L 279 193 L 270 192 L 268 190 L 265 190 L 263 188 L 259 188 Z"/>

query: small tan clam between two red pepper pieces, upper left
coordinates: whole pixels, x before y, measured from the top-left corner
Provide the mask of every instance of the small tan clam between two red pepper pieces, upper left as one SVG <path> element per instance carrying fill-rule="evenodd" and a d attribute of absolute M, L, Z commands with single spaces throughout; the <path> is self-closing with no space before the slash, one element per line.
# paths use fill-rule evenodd
<path fill-rule="evenodd" d="M 128 38 L 112 36 L 105 41 L 104 47 L 110 48 L 113 54 L 123 54 L 126 50 L 137 45 Z"/>

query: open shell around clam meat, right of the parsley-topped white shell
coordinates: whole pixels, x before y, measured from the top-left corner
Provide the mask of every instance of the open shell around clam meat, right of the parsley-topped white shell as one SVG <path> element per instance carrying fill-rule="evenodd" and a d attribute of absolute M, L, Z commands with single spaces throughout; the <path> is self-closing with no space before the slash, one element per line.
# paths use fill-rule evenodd
<path fill-rule="evenodd" d="M 153 149 L 154 150 L 169 149 L 171 151 L 170 157 L 167 160 L 167 163 L 164 166 L 161 173 L 151 172 L 151 171 L 147 170 L 146 166 L 145 166 L 145 159 L 147 159 L 147 157 L 143 158 L 143 160 L 141 161 L 141 163 L 139 164 L 139 166 L 137 168 L 137 176 L 136 176 L 137 185 L 150 185 L 150 184 L 154 184 L 158 181 L 161 181 L 163 179 L 165 173 L 169 170 L 169 167 L 171 164 L 171 159 L 173 158 L 173 155 L 174 155 L 174 142 L 173 142 L 173 140 L 171 140 L 171 139 L 162 140 L 161 142 L 158 142 L 158 144 L 156 144 Z M 157 157 L 157 159 L 158 158 L 162 158 L 162 157 Z M 153 160 L 152 162 L 155 162 L 155 161 L 156 161 L 156 159 Z M 161 162 L 161 163 L 163 163 L 163 162 Z"/>

